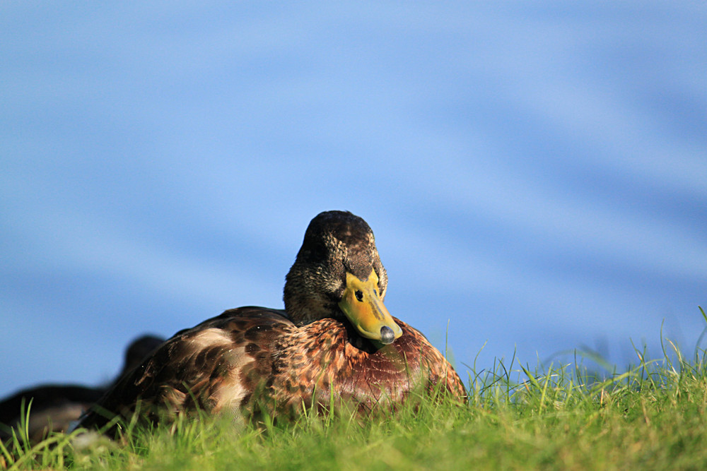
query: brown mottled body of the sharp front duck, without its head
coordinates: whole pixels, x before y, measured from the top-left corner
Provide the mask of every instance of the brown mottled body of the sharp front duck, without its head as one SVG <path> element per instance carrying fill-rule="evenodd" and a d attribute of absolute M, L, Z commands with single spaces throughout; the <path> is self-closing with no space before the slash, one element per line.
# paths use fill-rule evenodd
<path fill-rule="evenodd" d="M 285 311 L 230 309 L 165 342 L 98 401 L 81 427 L 103 427 L 116 414 L 129 420 L 138 402 L 158 422 L 165 412 L 189 410 L 291 416 L 303 405 L 327 407 L 332 398 L 368 412 L 436 387 L 464 398 L 463 383 L 443 355 L 418 330 L 396 321 L 401 338 L 377 348 L 337 319 L 298 327 Z"/>

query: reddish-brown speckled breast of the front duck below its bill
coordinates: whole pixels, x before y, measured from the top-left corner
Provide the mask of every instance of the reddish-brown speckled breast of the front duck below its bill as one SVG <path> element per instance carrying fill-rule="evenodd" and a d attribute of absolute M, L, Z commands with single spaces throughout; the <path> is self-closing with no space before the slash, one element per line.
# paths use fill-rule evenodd
<path fill-rule="evenodd" d="M 452 366 L 418 330 L 395 319 L 403 335 L 377 350 L 347 324 L 322 319 L 287 342 L 275 361 L 272 393 L 279 406 L 327 405 L 329 400 L 370 410 L 377 403 L 401 403 L 414 390 L 431 392 L 443 383 L 464 400 L 466 391 Z"/>

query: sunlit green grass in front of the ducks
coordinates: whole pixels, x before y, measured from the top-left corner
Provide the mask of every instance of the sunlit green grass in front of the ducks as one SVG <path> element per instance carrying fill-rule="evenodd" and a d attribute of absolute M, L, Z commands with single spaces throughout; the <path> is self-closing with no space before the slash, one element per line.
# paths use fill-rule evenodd
<path fill-rule="evenodd" d="M 664 347 L 652 362 L 637 350 L 635 367 L 602 381 L 581 357 L 471 368 L 468 405 L 418 398 L 374 419 L 305 413 L 234 427 L 201 417 L 83 449 L 75 434 L 34 447 L 17 436 L 0 449 L 0 469 L 707 469 L 706 352 L 686 359 Z"/>

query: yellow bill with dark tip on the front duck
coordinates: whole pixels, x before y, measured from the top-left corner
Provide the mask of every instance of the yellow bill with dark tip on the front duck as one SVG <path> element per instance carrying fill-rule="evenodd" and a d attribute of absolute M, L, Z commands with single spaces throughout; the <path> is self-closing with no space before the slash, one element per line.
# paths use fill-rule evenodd
<path fill-rule="evenodd" d="M 387 345 L 402 335 L 402 329 L 380 299 L 375 270 L 370 271 L 366 280 L 346 273 L 346 290 L 339 307 L 363 337 Z"/>

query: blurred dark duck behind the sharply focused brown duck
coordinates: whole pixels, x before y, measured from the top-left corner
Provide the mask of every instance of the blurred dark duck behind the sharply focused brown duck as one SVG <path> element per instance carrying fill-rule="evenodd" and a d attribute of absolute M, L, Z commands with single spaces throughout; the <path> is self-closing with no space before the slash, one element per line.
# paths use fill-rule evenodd
<path fill-rule="evenodd" d="M 163 338 L 153 335 L 143 335 L 133 340 L 125 351 L 123 368 L 117 377 L 138 366 L 163 341 Z M 0 440 L 8 439 L 11 428 L 20 423 L 23 403 L 24 410 L 30 410 L 27 430 L 30 441 L 35 443 L 49 431 L 69 429 L 69 424 L 81 417 L 112 383 L 96 388 L 79 384 L 42 384 L 18 391 L 0 401 Z"/>

